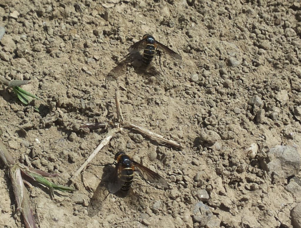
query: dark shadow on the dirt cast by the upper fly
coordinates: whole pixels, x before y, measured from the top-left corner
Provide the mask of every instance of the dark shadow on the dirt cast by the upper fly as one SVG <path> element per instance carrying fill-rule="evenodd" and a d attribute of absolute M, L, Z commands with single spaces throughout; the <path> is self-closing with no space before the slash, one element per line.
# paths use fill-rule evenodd
<path fill-rule="evenodd" d="M 116 60 L 116 64 L 116 67 L 110 70 L 110 72 L 107 74 L 106 81 L 117 80 L 118 77 L 127 72 L 128 67 L 133 67 L 135 73 L 142 75 L 144 78 L 160 75 L 160 71 L 156 70 L 156 68 L 151 66 L 151 64 L 147 67 L 142 65 L 142 55 L 139 52 L 132 54 L 129 53 L 120 61 Z"/>

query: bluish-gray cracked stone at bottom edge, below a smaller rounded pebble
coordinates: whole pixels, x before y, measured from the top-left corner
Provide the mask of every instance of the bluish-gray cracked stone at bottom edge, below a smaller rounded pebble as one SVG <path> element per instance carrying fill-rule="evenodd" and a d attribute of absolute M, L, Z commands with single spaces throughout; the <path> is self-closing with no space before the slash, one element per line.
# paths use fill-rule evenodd
<path fill-rule="evenodd" d="M 194 205 L 192 214 L 193 220 L 195 222 L 198 222 L 200 227 L 205 226 L 207 221 L 209 221 L 213 216 L 210 208 L 207 205 L 203 204 L 203 202 L 201 201 L 197 202 Z"/>

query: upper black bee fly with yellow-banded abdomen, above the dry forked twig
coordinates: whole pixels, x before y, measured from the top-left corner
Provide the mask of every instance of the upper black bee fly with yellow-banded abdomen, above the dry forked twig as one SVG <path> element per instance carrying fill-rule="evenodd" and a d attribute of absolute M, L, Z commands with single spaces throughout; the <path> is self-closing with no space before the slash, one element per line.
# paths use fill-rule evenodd
<path fill-rule="evenodd" d="M 134 43 L 132 46 L 129 47 L 129 54 L 133 54 L 136 52 L 139 52 L 143 49 L 143 58 L 142 58 L 142 64 L 144 66 L 148 66 L 155 55 L 159 55 L 159 64 L 161 67 L 161 51 L 166 52 L 171 57 L 182 60 L 182 57 L 172 51 L 172 49 L 166 47 L 165 45 L 161 44 L 160 42 L 156 41 L 153 36 L 150 34 L 145 34 L 142 39 L 136 43 Z M 160 50 L 158 50 L 160 49 Z M 163 70 L 162 70 L 163 71 Z"/>

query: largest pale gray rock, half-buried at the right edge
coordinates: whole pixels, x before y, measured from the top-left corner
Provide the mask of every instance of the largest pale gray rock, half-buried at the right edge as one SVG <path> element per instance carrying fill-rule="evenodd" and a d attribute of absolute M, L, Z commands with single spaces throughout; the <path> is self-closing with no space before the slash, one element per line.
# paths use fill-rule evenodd
<path fill-rule="evenodd" d="M 262 165 L 268 174 L 276 174 L 281 178 L 299 173 L 301 158 L 299 151 L 293 146 L 276 146 L 268 152 L 269 162 L 263 161 Z"/>

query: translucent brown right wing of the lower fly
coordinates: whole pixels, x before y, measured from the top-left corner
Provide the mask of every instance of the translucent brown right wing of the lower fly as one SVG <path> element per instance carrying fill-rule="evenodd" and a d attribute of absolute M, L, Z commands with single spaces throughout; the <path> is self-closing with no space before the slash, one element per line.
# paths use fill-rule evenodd
<path fill-rule="evenodd" d="M 132 161 L 135 169 L 139 172 L 140 176 L 144 180 L 148 180 L 151 183 L 155 183 L 157 185 L 162 186 L 163 188 L 168 188 L 168 183 L 162 176 L 154 171 L 150 170 L 149 168 L 139 164 L 138 162 Z"/>

